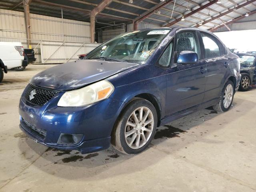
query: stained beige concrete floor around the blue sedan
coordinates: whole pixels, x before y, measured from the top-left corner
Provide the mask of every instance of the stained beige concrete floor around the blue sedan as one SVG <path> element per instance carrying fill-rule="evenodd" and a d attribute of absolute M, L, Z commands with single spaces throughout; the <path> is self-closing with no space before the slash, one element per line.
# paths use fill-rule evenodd
<path fill-rule="evenodd" d="M 150 148 L 81 155 L 35 143 L 19 129 L 28 80 L 52 65 L 9 71 L 0 83 L 0 191 L 256 191 L 256 89 L 237 92 L 230 111 L 205 109 L 158 128 Z"/>

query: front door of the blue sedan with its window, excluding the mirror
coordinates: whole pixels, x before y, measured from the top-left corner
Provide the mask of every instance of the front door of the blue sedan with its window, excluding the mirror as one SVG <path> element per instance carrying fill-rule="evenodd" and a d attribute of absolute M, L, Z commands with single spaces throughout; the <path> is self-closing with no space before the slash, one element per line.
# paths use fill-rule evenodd
<path fill-rule="evenodd" d="M 177 56 L 182 51 L 194 51 L 198 54 L 197 64 L 178 64 L 166 70 L 166 115 L 201 104 L 206 85 L 206 63 L 201 59 L 198 36 L 194 30 L 178 32 L 175 36 L 174 51 Z"/>

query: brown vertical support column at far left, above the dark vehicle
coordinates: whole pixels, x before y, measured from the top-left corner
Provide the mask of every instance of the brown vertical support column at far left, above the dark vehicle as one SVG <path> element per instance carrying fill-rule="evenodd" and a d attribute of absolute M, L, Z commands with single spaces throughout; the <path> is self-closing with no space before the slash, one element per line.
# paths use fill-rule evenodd
<path fill-rule="evenodd" d="M 31 47 L 31 24 L 30 24 L 30 12 L 29 12 L 29 5 L 32 0 L 23 0 L 24 5 L 24 21 L 25 21 L 25 29 L 26 29 L 26 38 L 28 48 Z"/>

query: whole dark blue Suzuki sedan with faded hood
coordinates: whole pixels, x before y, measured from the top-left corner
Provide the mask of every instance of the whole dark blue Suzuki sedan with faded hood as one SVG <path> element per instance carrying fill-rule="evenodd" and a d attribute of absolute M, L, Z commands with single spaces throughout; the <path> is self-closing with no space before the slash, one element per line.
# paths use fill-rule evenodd
<path fill-rule="evenodd" d="M 229 110 L 239 82 L 238 56 L 208 31 L 127 32 L 34 76 L 20 99 L 20 128 L 52 148 L 84 154 L 112 143 L 138 154 L 158 126 L 209 106 Z"/>

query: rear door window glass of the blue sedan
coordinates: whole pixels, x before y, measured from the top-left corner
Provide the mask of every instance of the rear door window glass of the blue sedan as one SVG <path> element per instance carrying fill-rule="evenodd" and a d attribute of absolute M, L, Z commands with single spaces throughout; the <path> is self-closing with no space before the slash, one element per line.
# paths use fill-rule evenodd
<path fill-rule="evenodd" d="M 205 32 L 200 32 L 203 42 L 204 42 L 204 49 L 205 49 L 205 56 L 206 58 L 212 58 L 212 57 L 217 57 L 221 55 L 220 52 L 220 46 L 219 42 L 214 36 L 205 33 Z"/>

